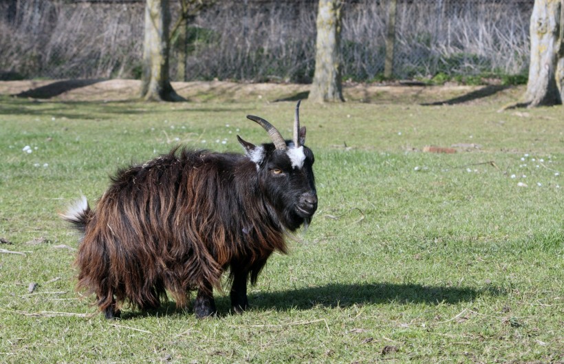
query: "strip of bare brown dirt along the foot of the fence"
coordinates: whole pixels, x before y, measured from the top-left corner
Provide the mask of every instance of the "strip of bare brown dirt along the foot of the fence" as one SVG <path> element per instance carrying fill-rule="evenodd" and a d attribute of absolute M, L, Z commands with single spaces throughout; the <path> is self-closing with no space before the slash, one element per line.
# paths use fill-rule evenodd
<path fill-rule="evenodd" d="M 127 101 L 138 99 L 140 85 L 137 80 L 121 79 L 2 81 L 0 94 L 54 101 Z M 298 100 L 307 98 L 310 89 L 310 85 L 229 81 L 174 82 L 173 87 L 178 94 L 192 102 Z M 523 94 L 523 87 L 359 83 L 345 85 L 343 93 L 347 100 L 362 103 L 456 105 L 516 102 Z"/>

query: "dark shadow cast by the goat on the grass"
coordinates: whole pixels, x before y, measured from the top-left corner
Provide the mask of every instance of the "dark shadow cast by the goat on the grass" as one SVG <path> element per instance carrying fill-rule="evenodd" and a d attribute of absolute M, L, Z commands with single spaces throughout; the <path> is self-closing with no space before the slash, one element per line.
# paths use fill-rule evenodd
<path fill-rule="evenodd" d="M 497 290 L 488 290 L 493 295 L 503 295 Z M 315 307 L 345 308 L 365 304 L 454 304 L 474 301 L 482 290 L 472 288 L 422 286 L 420 284 L 394 283 L 331 283 L 325 286 L 299 288 L 279 292 L 253 292 L 248 295 L 251 310 L 311 310 Z M 195 292 L 194 295 L 195 296 Z M 219 317 L 229 314 L 230 299 L 227 295 L 216 297 Z M 135 317 L 159 317 L 193 314 L 192 304 L 186 309 L 177 309 L 169 301 L 157 310 L 129 311 L 122 313 L 122 319 Z"/>

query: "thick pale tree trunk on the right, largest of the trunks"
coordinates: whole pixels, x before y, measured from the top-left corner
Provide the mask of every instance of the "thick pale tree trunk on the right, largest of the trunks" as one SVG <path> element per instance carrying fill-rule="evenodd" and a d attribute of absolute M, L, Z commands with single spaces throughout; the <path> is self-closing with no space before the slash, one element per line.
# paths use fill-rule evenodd
<path fill-rule="evenodd" d="M 556 84 L 561 0 L 535 0 L 531 16 L 531 60 L 525 93 L 528 107 L 559 105 Z"/>

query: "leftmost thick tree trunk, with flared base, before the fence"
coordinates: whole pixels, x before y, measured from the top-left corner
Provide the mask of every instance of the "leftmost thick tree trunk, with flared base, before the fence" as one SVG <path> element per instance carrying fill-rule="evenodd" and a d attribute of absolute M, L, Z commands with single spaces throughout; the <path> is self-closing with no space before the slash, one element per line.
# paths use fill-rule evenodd
<path fill-rule="evenodd" d="M 147 0 L 141 97 L 150 101 L 181 101 L 169 77 L 169 0 Z"/>

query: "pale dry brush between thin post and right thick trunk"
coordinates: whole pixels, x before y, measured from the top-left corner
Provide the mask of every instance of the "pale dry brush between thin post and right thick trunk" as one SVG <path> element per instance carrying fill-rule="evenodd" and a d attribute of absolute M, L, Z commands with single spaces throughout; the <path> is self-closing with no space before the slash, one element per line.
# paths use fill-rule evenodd
<path fill-rule="evenodd" d="M 398 61 L 402 76 L 519 74 L 528 67 L 530 9 L 517 1 L 402 3 Z"/>

